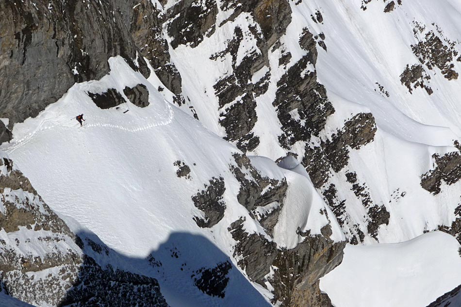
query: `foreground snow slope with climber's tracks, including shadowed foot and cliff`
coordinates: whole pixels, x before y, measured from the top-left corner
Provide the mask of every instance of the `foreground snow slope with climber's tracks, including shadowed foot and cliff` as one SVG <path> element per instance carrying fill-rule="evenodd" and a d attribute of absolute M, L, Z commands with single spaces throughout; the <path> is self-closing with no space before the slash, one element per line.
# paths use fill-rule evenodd
<path fill-rule="evenodd" d="M 84 227 L 133 259 L 97 257 L 99 265 L 144 265 L 135 272 L 157 279 L 172 306 L 263 306 L 307 296 L 339 264 L 344 246 L 307 173 L 249 160 L 166 102 L 122 58 L 109 63 L 108 76 L 74 85 L 36 118 L 16 124 L 13 141 L 1 147 L 44 201 L 77 235 Z M 148 90 L 144 108 L 127 102 L 101 110 L 87 95 L 136 84 Z M 82 128 L 74 113 L 84 114 Z M 296 263 L 291 258 L 324 253 L 330 256 L 285 275 Z M 298 280 L 305 285 L 285 286 Z"/>

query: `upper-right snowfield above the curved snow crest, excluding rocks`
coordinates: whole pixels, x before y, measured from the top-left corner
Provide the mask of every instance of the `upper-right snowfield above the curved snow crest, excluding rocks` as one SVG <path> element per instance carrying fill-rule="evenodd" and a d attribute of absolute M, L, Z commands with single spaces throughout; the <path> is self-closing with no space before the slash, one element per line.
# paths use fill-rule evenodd
<path fill-rule="evenodd" d="M 428 96 L 424 89 L 408 93 L 399 76 L 407 64 L 419 64 L 411 48 L 418 43 L 413 22 L 436 34 L 438 26 L 446 38 L 460 40 L 459 1 L 402 1 L 391 13 L 383 13 L 382 1 L 371 1 L 366 11 L 360 8 L 361 0 L 306 2 L 311 8 L 320 8 L 325 20 L 314 27 L 326 35 L 328 52 L 319 50 L 317 72 L 329 92 L 369 108 L 380 129 L 404 140 L 453 144 L 461 135 L 461 105 L 457 103 L 461 80 L 448 81 L 434 67 L 430 71 L 434 94 Z M 461 63 L 454 61 L 454 69 L 460 71 Z M 390 97 L 374 91 L 375 82 L 384 86 Z M 332 102 L 341 108 L 341 101 Z"/>

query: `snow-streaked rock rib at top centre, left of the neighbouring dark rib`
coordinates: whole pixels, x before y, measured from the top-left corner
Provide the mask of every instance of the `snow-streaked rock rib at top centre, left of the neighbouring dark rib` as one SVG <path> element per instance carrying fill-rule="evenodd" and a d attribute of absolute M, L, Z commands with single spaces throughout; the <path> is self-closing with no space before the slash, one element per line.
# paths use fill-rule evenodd
<path fill-rule="evenodd" d="M 235 141 L 242 150 L 253 151 L 260 143 L 251 131 L 258 120 L 255 99 L 267 91 L 270 79 L 268 50 L 279 47 L 277 42 L 291 21 L 291 8 L 288 1 L 280 0 L 223 1 L 220 9 L 230 16 L 219 27 L 247 14 L 254 18 L 248 25 L 235 27 L 227 47 L 211 57 L 215 61 L 232 58 L 230 71 L 214 85 L 219 98 L 219 123 L 226 130 L 226 139 Z M 246 53 L 248 40 L 255 46 Z M 246 53 L 243 58 L 242 53 Z M 263 71 L 262 76 L 254 77 L 256 72 Z"/>

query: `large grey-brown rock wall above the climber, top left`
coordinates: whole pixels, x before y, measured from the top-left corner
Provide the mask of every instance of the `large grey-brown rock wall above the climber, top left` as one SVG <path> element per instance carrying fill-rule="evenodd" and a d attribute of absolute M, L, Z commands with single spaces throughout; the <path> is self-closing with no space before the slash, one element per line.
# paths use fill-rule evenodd
<path fill-rule="evenodd" d="M 148 76 L 126 26 L 130 9 L 130 3 L 115 0 L 2 1 L 0 117 L 8 117 L 11 128 L 36 116 L 74 82 L 107 74 L 111 56 L 121 55 Z"/>

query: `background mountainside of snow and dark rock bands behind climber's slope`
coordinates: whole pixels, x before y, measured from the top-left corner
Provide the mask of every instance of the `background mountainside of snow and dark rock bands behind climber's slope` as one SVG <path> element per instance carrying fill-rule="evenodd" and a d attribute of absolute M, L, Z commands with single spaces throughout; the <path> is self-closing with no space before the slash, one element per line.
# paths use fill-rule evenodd
<path fill-rule="evenodd" d="M 251 3 L 205 5 L 199 44 L 167 31 L 186 40 L 170 54 L 202 123 L 273 160 L 293 152 L 350 242 L 456 235 L 459 4 Z"/>

